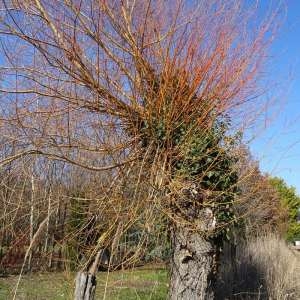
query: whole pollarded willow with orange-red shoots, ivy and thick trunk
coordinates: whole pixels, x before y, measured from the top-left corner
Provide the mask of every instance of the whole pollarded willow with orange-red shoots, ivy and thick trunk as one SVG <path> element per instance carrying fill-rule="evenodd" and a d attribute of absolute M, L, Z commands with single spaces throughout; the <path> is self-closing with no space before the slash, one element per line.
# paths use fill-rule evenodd
<path fill-rule="evenodd" d="M 212 298 L 237 180 L 224 137 L 260 107 L 274 19 L 238 0 L 1 6 L 1 129 L 17 149 L 3 163 L 43 155 L 120 175 L 138 162 L 156 191 L 140 207 L 171 226 L 170 297 Z"/>

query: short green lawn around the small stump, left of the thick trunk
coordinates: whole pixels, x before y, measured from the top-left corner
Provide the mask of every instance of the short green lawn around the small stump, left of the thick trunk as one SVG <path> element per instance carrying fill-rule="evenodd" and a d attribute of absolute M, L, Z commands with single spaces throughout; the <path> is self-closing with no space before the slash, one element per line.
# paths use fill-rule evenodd
<path fill-rule="evenodd" d="M 72 299 L 74 273 L 36 273 L 22 276 L 18 300 Z M 0 278 L 0 300 L 12 299 L 18 276 Z M 106 290 L 106 292 L 105 292 Z M 165 269 L 135 269 L 97 274 L 96 299 L 166 299 L 168 276 Z"/>

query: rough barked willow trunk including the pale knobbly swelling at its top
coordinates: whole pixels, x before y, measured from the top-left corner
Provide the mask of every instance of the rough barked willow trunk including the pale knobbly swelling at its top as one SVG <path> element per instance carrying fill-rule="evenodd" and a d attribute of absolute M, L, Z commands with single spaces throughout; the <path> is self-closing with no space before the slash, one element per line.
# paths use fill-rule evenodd
<path fill-rule="evenodd" d="M 216 247 L 205 234 L 215 228 L 215 218 L 210 208 L 202 206 L 197 211 L 192 201 L 184 203 L 181 208 L 189 222 L 174 223 L 171 228 L 173 254 L 169 298 L 211 300 L 214 299 Z"/>

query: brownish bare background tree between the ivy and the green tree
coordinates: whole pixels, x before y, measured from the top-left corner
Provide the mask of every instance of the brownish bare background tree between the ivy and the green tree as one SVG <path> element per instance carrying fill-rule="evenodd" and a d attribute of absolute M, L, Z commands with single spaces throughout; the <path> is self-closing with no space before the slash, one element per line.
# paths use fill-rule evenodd
<path fill-rule="evenodd" d="M 234 203 L 236 216 L 244 222 L 244 236 L 257 236 L 266 232 L 283 234 L 286 230 L 288 211 L 282 206 L 281 196 L 270 177 L 263 174 L 249 149 L 237 149 L 238 190 Z"/>

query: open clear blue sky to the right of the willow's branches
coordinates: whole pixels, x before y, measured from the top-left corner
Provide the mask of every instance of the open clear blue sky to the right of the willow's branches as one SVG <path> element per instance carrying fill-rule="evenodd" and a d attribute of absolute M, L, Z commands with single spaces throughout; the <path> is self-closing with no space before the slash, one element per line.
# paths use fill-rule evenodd
<path fill-rule="evenodd" d="M 260 12 L 270 2 L 261 0 Z M 272 121 L 259 130 L 251 150 L 262 171 L 284 178 L 300 194 L 300 1 L 285 3 L 286 16 L 271 47 L 267 73 L 275 83 L 270 89 L 279 105 L 269 108 L 267 115 L 272 115 Z"/>

